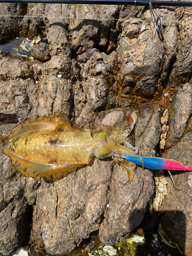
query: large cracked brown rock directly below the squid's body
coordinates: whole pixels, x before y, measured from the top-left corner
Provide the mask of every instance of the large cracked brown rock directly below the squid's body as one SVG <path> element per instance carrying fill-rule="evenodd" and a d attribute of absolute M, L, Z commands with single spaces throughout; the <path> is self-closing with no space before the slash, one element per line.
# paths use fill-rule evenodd
<path fill-rule="evenodd" d="M 112 166 L 113 162 L 96 160 L 94 165 L 54 184 L 42 181 L 33 225 L 34 230 L 41 229 L 39 234 L 47 252 L 71 251 L 82 238 L 88 238 L 90 232 L 99 228 L 108 200 Z M 32 236 L 36 235 L 35 231 Z"/>

